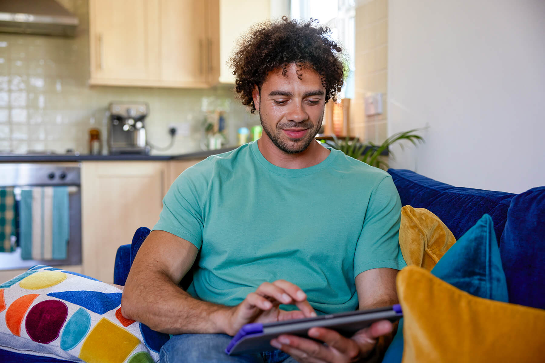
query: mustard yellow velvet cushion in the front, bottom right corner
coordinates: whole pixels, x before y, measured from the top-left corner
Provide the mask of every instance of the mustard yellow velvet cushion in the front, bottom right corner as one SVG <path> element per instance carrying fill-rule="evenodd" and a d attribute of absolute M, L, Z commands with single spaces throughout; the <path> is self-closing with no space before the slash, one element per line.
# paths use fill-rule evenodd
<path fill-rule="evenodd" d="M 403 363 L 539 362 L 545 310 L 470 295 L 409 266 L 397 275 Z"/>

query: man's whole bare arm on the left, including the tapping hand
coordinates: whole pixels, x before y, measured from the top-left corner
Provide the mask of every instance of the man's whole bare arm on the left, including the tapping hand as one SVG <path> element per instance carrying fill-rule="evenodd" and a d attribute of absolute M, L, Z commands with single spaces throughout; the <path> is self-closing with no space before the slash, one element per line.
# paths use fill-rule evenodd
<path fill-rule="evenodd" d="M 153 231 L 132 263 L 121 299 L 123 316 L 169 334 L 224 333 L 234 335 L 247 323 L 316 316 L 306 294 L 288 281 L 263 282 L 237 306 L 192 298 L 178 287 L 197 256 L 189 241 Z M 283 311 L 295 304 L 300 311 Z"/>

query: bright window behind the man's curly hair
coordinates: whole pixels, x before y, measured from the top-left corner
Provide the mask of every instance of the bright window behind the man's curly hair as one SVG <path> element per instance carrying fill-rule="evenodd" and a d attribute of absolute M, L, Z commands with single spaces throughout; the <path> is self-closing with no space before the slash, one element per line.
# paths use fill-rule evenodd
<path fill-rule="evenodd" d="M 355 0 L 292 0 L 293 19 L 318 19 L 320 24 L 331 29 L 331 38 L 347 52 L 349 72 L 340 98 L 354 99 L 354 56 L 355 56 Z"/>

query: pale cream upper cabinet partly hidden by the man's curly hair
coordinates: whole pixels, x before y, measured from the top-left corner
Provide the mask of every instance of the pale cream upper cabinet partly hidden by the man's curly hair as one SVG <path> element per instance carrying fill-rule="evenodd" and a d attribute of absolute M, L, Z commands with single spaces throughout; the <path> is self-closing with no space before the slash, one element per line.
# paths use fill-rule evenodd
<path fill-rule="evenodd" d="M 275 0 L 272 0 L 275 1 Z M 227 61 L 237 40 L 258 22 L 269 19 L 271 0 L 220 0 L 220 82 L 234 83 Z"/>

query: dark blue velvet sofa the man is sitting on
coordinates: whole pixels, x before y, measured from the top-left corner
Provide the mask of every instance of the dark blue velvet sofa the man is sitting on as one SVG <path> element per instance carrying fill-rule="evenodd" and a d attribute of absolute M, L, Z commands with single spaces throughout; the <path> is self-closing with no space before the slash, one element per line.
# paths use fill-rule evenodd
<path fill-rule="evenodd" d="M 389 169 L 402 205 L 436 214 L 458 239 L 488 213 L 494 221 L 509 302 L 545 309 L 545 186 L 512 194 L 454 187 L 410 170 Z M 140 245 L 149 233 L 141 227 L 132 244 L 119 247 L 114 284 L 125 280 Z M 189 286 L 191 274 L 181 282 Z"/>

